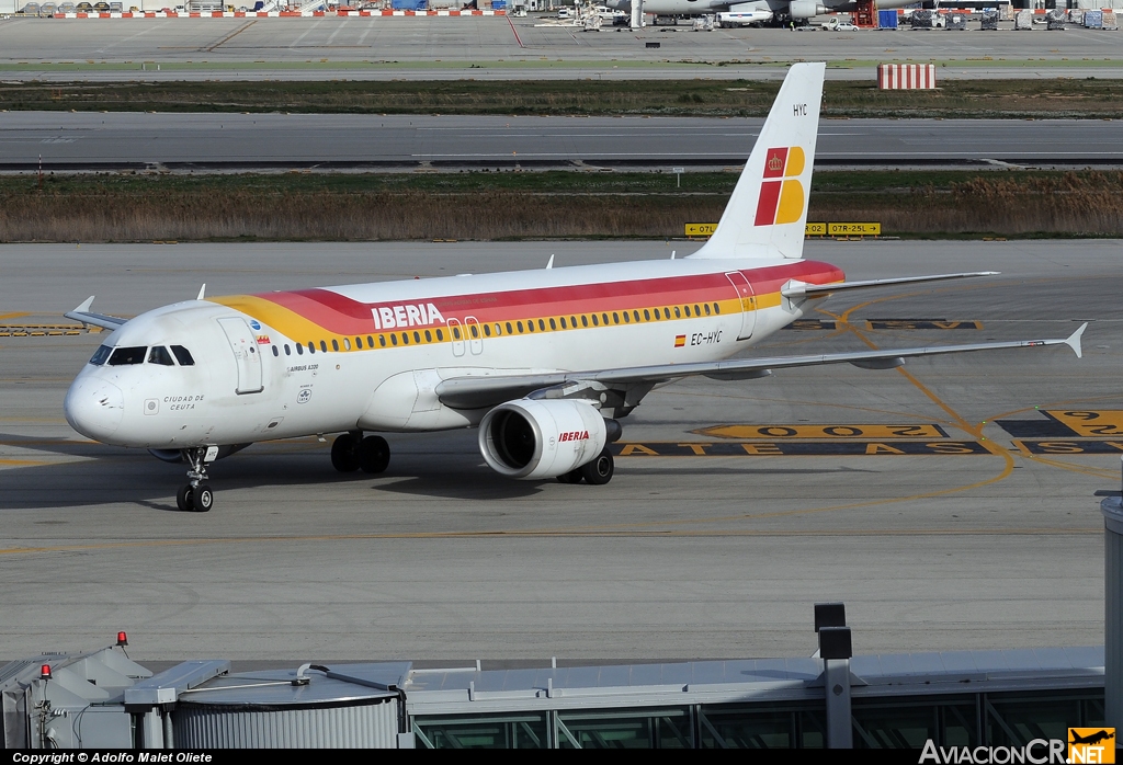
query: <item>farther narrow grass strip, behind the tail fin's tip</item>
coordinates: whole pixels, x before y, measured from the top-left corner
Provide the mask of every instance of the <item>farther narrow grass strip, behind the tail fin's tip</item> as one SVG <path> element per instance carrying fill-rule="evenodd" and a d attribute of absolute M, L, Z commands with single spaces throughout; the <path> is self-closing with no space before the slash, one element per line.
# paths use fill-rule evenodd
<path fill-rule="evenodd" d="M 128 82 L 4 83 L 0 109 L 372 114 L 763 117 L 778 82 Z M 825 117 L 1123 118 L 1123 81 L 947 80 L 934 91 L 825 83 Z"/>

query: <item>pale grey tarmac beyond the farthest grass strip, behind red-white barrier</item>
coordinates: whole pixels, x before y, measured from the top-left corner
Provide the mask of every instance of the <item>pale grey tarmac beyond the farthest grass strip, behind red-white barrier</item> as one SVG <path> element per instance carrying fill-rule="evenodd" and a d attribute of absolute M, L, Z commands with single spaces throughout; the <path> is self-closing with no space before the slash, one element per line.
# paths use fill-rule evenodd
<path fill-rule="evenodd" d="M 1123 74 L 1119 31 L 585 33 L 541 26 L 544 18 L 12 18 L 0 21 L 0 77 L 755 80 L 782 79 L 794 61 L 827 61 L 828 77 L 870 82 L 884 62 L 932 62 L 940 79 Z"/>

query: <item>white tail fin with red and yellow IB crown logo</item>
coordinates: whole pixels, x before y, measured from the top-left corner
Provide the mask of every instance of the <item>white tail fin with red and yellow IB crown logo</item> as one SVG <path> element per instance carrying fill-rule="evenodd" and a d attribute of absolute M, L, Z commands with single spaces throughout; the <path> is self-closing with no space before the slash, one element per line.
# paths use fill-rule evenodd
<path fill-rule="evenodd" d="M 692 258 L 801 258 L 827 64 L 794 64 L 718 230 Z"/>

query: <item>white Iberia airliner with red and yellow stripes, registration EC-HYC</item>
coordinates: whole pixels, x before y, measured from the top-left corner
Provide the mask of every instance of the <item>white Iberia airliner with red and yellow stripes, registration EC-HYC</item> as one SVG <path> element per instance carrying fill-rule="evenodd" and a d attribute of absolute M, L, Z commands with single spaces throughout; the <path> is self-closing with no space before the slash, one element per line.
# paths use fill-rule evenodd
<path fill-rule="evenodd" d="M 245 446 L 340 433 L 331 463 L 378 473 L 374 433 L 477 427 L 484 461 L 522 480 L 608 483 L 606 444 L 654 388 L 686 377 L 1067 344 L 1066 339 L 739 358 L 834 293 L 994 271 L 846 282 L 803 258 L 825 64 L 791 67 L 713 236 L 686 257 L 204 297 L 111 330 L 64 402 L 79 433 L 190 466 L 176 504 L 210 510 L 208 468 Z"/>

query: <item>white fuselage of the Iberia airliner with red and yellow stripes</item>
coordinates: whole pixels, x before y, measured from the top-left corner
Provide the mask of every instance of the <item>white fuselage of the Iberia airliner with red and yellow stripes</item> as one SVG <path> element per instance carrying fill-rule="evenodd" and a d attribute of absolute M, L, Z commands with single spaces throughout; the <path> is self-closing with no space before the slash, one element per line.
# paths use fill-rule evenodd
<path fill-rule="evenodd" d="M 189 301 L 112 332 L 65 412 L 89 437 L 157 450 L 468 427 L 486 409 L 445 406 L 441 380 L 727 358 L 803 315 L 785 284 L 841 278 L 685 259 Z"/>

